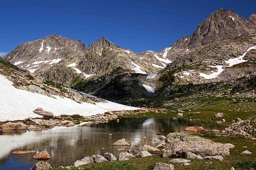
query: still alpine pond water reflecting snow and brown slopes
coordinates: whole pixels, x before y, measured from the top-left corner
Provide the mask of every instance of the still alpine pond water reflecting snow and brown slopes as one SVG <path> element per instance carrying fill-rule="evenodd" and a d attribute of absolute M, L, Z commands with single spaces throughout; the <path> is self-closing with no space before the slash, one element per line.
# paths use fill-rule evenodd
<path fill-rule="evenodd" d="M 0 169 L 28 169 L 28 166 L 31 168 L 36 163 L 32 159 L 33 154 L 14 156 L 11 155 L 14 150 L 45 150 L 52 157 L 49 160 L 52 166 L 68 166 L 88 155 L 112 152 L 117 156 L 124 151 L 117 151 L 122 147 L 113 147 L 111 144 L 121 138 L 128 139 L 132 143 L 131 147 L 125 148 L 125 151 L 141 150 L 145 144 L 156 147 L 164 143 L 159 140 L 157 133 L 166 136 L 170 132 L 184 131 L 184 128 L 191 125 L 202 126 L 206 130 L 223 129 L 228 124 L 227 122 L 218 124 L 205 119 L 189 121 L 182 118 L 175 120 L 170 118 L 128 118 L 120 119 L 119 123 L 116 121 L 90 122 L 70 128 L 55 127 L 49 130 L 8 132 L 5 135 L 0 135 Z M 112 133 L 113 136 L 109 137 L 109 133 Z M 146 136 L 148 139 L 141 139 L 142 136 Z M 79 142 L 84 144 L 80 145 Z M 135 147 L 136 145 L 138 147 Z M 101 150 L 101 148 L 106 148 L 106 150 Z"/>

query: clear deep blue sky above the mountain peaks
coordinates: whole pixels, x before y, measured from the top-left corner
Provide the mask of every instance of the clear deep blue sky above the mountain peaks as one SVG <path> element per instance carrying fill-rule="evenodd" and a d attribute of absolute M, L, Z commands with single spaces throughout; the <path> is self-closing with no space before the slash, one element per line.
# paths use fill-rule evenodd
<path fill-rule="evenodd" d="M 193 33 L 213 11 L 249 18 L 255 0 L 0 0 L 0 55 L 56 33 L 88 43 L 101 36 L 135 52 L 159 51 Z"/>

